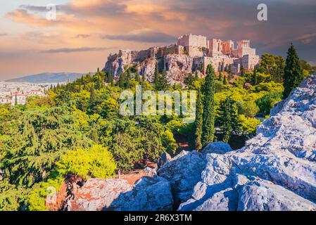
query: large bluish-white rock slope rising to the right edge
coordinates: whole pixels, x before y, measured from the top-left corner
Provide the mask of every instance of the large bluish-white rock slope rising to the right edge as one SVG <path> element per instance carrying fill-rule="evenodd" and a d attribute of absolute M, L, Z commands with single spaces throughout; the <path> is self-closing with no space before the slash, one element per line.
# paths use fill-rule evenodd
<path fill-rule="evenodd" d="M 240 150 L 206 155 L 179 210 L 316 210 L 316 75 L 279 103 Z"/>

